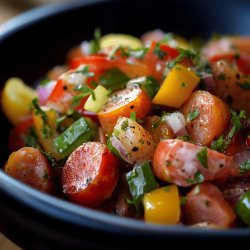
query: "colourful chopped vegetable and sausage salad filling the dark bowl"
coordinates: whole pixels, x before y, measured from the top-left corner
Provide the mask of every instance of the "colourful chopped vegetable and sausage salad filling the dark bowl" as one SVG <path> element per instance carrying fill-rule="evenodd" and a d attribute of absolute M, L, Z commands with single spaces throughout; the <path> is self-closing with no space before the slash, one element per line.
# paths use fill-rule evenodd
<path fill-rule="evenodd" d="M 4 171 L 146 223 L 250 226 L 249 44 L 96 29 L 33 88 L 6 82 Z"/>

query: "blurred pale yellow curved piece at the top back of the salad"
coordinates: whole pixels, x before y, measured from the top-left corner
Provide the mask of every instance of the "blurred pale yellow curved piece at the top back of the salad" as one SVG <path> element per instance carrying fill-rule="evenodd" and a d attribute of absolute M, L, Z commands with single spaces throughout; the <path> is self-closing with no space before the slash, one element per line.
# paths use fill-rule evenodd
<path fill-rule="evenodd" d="M 137 37 L 126 34 L 108 34 L 100 39 L 101 49 L 119 45 L 129 47 L 131 49 L 138 49 L 142 47 L 142 43 Z"/>

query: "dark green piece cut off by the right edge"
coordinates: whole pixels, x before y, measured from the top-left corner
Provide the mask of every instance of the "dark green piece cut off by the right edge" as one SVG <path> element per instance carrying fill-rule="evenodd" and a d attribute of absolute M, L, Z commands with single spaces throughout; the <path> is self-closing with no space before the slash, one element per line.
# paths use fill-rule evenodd
<path fill-rule="evenodd" d="M 241 196 L 236 203 L 235 211 L 241 220 L 250 227 L 250 191 Z"/>

